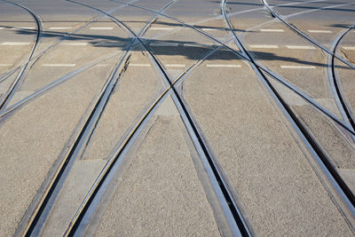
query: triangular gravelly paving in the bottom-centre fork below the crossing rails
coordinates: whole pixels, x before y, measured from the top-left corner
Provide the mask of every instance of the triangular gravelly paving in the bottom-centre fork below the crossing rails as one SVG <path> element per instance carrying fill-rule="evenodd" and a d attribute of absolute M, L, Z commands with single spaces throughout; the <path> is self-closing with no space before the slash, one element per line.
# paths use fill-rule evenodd
<path fill-rule="evenodd" d="M 176 108 L 164 114 L 154 118 L 132 154 L 97 236 L 219 235 L 182 134 L 184 124 Z"/>

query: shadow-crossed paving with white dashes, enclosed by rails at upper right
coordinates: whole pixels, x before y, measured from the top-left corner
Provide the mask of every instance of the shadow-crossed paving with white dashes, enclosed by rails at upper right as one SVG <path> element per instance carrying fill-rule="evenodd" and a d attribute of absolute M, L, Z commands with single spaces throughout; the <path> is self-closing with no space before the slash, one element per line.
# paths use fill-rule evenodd
<path fill-rule="evenodd" d="M 269 28 L 269 25 L 261 28 Z M 255 59 L 296 87 L 308 92 L 312 98 L 328 98 L 327 57 L 322 51 L 290 29 L 283 28 L 280 23 L 270 26 L 284 30 L 282 34 L 277 34 L 277 37 L 275 33 L 260 31 L 261 28 L 243 35 L 244 43 L 248 45 L 248 50 Z M 267 48 L 269 44 L 277 48 Z M 260 46 L 256 48 L 253 45 Z M 313 46 L 314 50 L 288 49 L 289 45 Z"/>

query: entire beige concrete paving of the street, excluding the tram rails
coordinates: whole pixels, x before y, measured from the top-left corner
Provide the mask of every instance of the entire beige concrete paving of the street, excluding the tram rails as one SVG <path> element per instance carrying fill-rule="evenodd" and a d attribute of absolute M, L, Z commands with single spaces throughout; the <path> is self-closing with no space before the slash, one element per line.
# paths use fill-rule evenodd
<path fill-rule="evenodd" d="M 169 2 L 150 0 L 134 4 L 159 11 Z M 268 2 L 293 4 L 276 8 L 284 15 L 351 3 L 350 0 Z M 43 39 L 36 53 L 99 16 L 98 11 L 67 1 L 36 0 L 20 4 L 33 10 L 43 23 Z M 96 0 L 85 0 L 83 4 L 106 12 L 121 5 Z M 166 13 L 224 41 L 230 32 L 225 27 L 220 4 L 221 1 L 180 0 Z M 289 22 L 329 47 L 338 33 L 352 25 L 354 10 L 354 5 L 343 5 L 304 13 Z M 340 117 L 328 85 L 326 54 L 272 18 L 259 0 L 227 1 L 226 11 L 233 14 L 230 20 L 236 34 L 244 36 L 243 43 L 259 62 Z M 113 14 L 136 34 L 154 16 L 152 12 L 127 6 Z M 350 61 L 355 61 L 354 34 L 351 30 L 337 51 Z M 36 24 L 31 15 L 19 6 L 0 2 L 0 74 L 27 60 L 35 37 Z M 94 59 L 113 51 L 124 52 L 131 37 L 126 29 L 106 17 L 95 20 L 45 53 L 33 67 L 28 67 L 29 73 L 10 105 Z M 147 45 L 171 78 L 217 44 L 192 29 L 183 28 L 175 20 L 162 17 L 143 39 L 151 37 L 155 38 Z M 267 44 L 272 46 L 260 47 Z M 235 43 L 229 45 L 238 50 Z M 111 95 L 82 159 L 77 160 L 69 173 L 43 236 L 63 233 L 106 162 L 104 159 L 111 156 L 162 92 L 162 76 L 142 51 L 141 47 L 132 49 L 130 65 Z M 16 228 L 20 233 L 27 225 L 58 163 L 82 128 L 85 113 L 93 106 L 92 99 L 102 90 L 119 59 L 117 54 L 116 58 L 100 62 L 0 118 L 0 178 L 3 180 L 0 218 L 4 220 L 0 233 L 12 235 Z M 336 64 L 344 100 L 353 113 L 354 70 Z M 15 75 L 0 83 L 0 93 L 7 90 L 14 78 Z M 337 195 L 322 179 L 312 156 L 272 102 L 269 92 L 264 91 L 248 62 L 222 49 L 179 86 L 193 119 L 225 171 L 234 197 L 241 201 L 248 219 L 255 225 L 256 234 L 353 235 L 355 220 L 346 216 L 348 213 L 339 204 Z M 353 144 L 343 137 L 342 130 L 295 93 L 277 83 L 275 87 L 317 138 L 319 146 L 327 151 L 345 182 L 354 188 Z M 223 212 L 218 210 L 217 198 L 212 197 L 216 194 L 208 185 L 208 175 L 199 164 L 201 160 L 171 99 L 162 103 L 148 123 L 142 131 L 144 134 L 130 147 L 128 164 L 117 172 L 117 179 L 100 203 L 87 234 L 228 235 L 221 220 Z M 341 211 L 352 226 L 352 233 Z"/>

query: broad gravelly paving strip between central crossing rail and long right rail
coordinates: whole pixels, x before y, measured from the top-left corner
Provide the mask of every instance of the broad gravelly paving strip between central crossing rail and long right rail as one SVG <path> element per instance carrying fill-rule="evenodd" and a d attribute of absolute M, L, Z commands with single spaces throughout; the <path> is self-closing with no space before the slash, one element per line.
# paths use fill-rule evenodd
<path fill-rule="evenodd" d="M 185 99 L 256 233 L 351 235 L 256 76 L 235 62 L 242 67 L 196 70 Z"/>

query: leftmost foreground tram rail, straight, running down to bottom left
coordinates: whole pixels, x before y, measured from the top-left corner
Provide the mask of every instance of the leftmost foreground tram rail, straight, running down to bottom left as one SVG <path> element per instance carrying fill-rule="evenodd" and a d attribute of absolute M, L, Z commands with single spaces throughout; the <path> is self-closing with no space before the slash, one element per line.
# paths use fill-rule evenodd
<path fill-rule="evenodd" d="M 170 4 L 172 3 L 173 2 L 170 2 Z M 166 8 L 168 8 L 170 4 L 166 5 L 163 9 L 165 10 Z M 142 28 L 138 33 L 138 36 L 141 36 L 146 32 L 146 29 L 149 28 L 150 24 L 154 22 L 155 18 L 156 16 L 154 16 L 146 23 L 146 26 Z M 73 166 L 76 157 L 79 157 L 80 154 L 83 153 L 83 148 L 85 147 L 85 144 L 87 144 L 88 140 L 91 138 L 91 134 L 93 130 L 95 130 L 96 125 L 99 122 L 99 119 L 106 107 L 108 100 L 110 99 L 111 94 L 114 91 L 116 84 L 119 83 L 119 80 L 122 77 L 122 73 L 124 73 L 124 71 L 129 65 L 130 50 L 132 49 L 138 36 L 131 39 L 130 45 L 123 54 L 122 59 L 120 59 L 117 63 L 117 66 L 114 67 L 114 71 L 111 73 L 109 80 L 106 81 L 106 84 L 103 90 L 100 92 L 99 97 L 96 99 L 96 102 L 93 103 L 94 106 L 91 108 L 91 113 L 89 117 L 86 119 L 82 130 L 75 138 L 74 144 L 68 150 L 67 154 L 65 155 L 65 158 L 59 165 L 59 169 L 56 171 L 53 178 L 51 179 L 50 185 L 47 186 L 42 196 L 42 199 L 39 201 L 35 211 L 31 215 L 31 218 L 28 221 L 28 225 L 25 228 L 22 236 L 36 236 L 41 232 L 43 224 L 47 216 L 49 215 L 51 205 L 56 200 L 61 186 L 64 185 L 64 181 L 67 178 L 68 172 Z"/>

